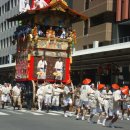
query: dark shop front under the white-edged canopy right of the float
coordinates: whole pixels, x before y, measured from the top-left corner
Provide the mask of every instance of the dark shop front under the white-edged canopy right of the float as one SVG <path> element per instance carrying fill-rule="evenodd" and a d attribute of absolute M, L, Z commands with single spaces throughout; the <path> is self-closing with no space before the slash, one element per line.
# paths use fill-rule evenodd
<path fill-rule="evenodd" d="M 75 52 L 71 76 L 74 84 L 80 84 L 84 78 L 108 85 L 130 84 L 130 43 Z"/>

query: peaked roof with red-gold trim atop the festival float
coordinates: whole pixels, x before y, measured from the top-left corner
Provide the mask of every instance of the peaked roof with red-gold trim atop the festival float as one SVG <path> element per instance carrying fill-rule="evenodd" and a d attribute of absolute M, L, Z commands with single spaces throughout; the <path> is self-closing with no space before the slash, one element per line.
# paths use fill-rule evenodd
<path fill-rule="evenodd" d="M 15 15 L 11 18 L 8 19 L 8 21 L 19 21 L 23 20 L 25 18 L 30 18 L 33 17 L 37 14 L 50 14 L 52 15 L 53 13 L 57 15 L 68 15 L 70 16 L 70 19 L 72 23 L 78 22 L 78 21 L 86 21 L 88 17 L 86 15 L 80 14 L 77 11 L 71 9 L 68 5 L 66 5 L 62 1 L 57 1 L 55 3 L 52 3 L 44 8 L 39 8 L 39 9 L 34 9 L 34 10 L 28 10 L 24 13 Z"/>

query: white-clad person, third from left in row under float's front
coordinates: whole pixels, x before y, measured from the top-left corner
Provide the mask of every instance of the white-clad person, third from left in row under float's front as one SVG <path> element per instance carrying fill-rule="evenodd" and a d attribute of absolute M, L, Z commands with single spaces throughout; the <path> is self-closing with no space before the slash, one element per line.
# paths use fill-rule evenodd
<path fill-rule="evenodd" d="M 63 90 L 58 88 L 58 84 L 54 84 L 54 94 L 53 94 L 53 98 L 52 98 L 52 106 L 55 108 L 55 110 L 58 110 L 61 93 L 63 93 Z"/>

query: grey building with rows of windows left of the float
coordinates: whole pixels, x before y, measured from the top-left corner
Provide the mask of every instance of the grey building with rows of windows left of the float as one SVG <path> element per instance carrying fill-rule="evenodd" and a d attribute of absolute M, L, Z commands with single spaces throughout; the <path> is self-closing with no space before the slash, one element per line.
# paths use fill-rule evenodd
<path fill-rule="evenodd" d="M 16 43 L 13 33 L 18 22 L 7 19 L 19 13 L 18 0 L 0 1 L 0 81 L 11 80 L 15 70 Z"/>

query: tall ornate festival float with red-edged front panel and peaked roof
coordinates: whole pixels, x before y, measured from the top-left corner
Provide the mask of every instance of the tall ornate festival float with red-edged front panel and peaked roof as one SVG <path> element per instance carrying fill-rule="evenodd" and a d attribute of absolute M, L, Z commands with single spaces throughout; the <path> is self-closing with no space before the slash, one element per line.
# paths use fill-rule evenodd
<path fill-rule="evenodd" d="M 76 32 L 72 24 L 87 17 L 71 9 L 64 0 L 52 0 L 47 5 L 32 2 L 31 8 L 8 21 L 19 21 L 14 33 L 17 43 L 15 80 L 28 86 L 37 81 L 66 83 L 71 80 L 72 62 Z M 44 58 L 44 71 L 38 62 Z M 63 62 L 62 71 L 56 71 L 57 59 Z"/>

